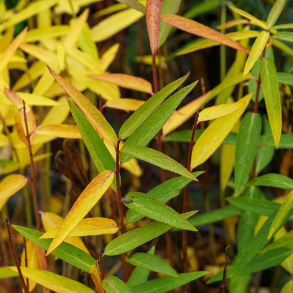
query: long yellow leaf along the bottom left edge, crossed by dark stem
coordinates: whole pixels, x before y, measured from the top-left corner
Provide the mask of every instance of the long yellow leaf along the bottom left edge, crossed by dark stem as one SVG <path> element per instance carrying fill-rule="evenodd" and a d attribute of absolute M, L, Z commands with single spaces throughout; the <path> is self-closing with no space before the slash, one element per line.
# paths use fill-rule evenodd
<path fill-rule="evenodd" d="M 14 272 L 17 272 L 17 267 L 8 268 Z M 84 284 L 53 272 L 21 267 L 21 273 L 30 280 L 33 280 L 57 293 L 94 293 L 93 290 Z"/>

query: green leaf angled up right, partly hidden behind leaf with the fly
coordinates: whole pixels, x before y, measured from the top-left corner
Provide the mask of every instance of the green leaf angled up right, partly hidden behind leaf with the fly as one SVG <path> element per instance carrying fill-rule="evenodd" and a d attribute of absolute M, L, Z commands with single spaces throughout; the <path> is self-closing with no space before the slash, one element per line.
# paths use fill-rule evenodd
<path fill-rule="evenodd" d="M 194 172 L 193 175 L 197 177 L 202 173 L 203 172 Z M 147 194 L 155 197 L 157 200 L 165 204 L 168 200 L 177 196 L 180 193 L 181 189 L 184 188 L 190 181 L 191 179 L 183 176 L 172 178 L 151 189 L 147 192 Z M 144 218 L 144 215 L 138 214 L 131 209 L 127 210 L 127 224 L 134 223 L 142 218 Z"/>

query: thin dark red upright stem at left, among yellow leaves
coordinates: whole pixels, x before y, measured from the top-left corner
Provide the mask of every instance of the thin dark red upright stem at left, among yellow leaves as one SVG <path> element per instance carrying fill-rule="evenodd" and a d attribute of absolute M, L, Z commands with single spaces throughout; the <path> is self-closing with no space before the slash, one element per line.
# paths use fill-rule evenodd
<path fill-rule="evenodd" d="M 32 194 L 33 194 L 33 202 L 34 202 L 36 224 L 37 224 L 37 230 L 40 231 L 41 230 L 41 222 L 40 222 L 39 206 L 38 206 L 38 199 L 37 199 L 35 166 L 34 166 L 34 160 L 33 160 L 32 146 L 31 146 L 31 143 L 30 143 L 30 133 L 29 133 L 29 130 L 28 130 L 28 125 L 27 125 L 24 101 L 23 101 L 23 116 L 24 116 L 25 130 L 26 130 L 27 148 L 28 148 L 28 151 L 29 151 L 29 158 L 30 158 L 31 184 L 32 184 Z"/>

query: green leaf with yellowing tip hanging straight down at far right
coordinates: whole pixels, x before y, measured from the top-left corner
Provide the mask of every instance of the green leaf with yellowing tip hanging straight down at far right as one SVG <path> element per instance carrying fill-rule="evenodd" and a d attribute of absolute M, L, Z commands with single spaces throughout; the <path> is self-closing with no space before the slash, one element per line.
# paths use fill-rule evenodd
<path fill-rule="evenodd" d="M 278 148 L 282 132 L 282 109 L 277 71 L 271 58 L 260 60 L 260 76 L 272 137 L 276 148 Z"/>

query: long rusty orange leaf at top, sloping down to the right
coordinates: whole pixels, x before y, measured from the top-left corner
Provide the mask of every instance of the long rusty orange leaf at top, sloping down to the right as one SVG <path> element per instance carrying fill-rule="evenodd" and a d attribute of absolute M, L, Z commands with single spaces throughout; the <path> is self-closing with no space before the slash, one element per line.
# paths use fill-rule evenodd
<path fill-rule="evenodd" d="M 216 42 L 219 42 L 223 45 L 229 46 L 231 48 L 234 48 L 236 50 L 243 51 L 246 54 L 250 53 L 250 50 L 239 44 L 238 42 L 235 42 L 225 36 L 224 34 L 210 28 L 209 26 L 206 26 L 202 23 L 199 23 L 197 21 L 192 21 L 187 18 L 184 18 L 182 16 L 178 15 L 172 15 L 172 14 L 165 14 L 161 16 L 161 20 L 165 21 L 181 30 L 184 30 L 190 34 L 194 34 L 209 40 L 213 40 Z"/>

